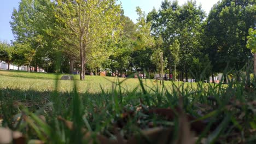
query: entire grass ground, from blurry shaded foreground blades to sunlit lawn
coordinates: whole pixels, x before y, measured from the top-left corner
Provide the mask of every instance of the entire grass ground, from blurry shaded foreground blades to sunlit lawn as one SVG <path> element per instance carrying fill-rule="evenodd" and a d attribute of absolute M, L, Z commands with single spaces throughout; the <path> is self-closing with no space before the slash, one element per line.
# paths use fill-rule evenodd
<path fill-rule="evenodd" d="M 179 135 L 181 113 L 174 109 L 182 98 L 182 109 L 194 117 L 191 127 L 195 121 L 204 124 L 203 130 L 195 134 L 198 143 L 201 140 L 254 143 L 256 140 L 253 103 L 256 80 L 250 85 L 245 77 L 239 82 L 230 80 L 228 85 L 166 81 L 162 87 L 154 80 L 86 76 L 85 81 L 79 81 L 75 76 L 75 81 L 62 81 L 60 76 L 0 71 L 2 127 L 21 131 L 27 142 L 33 139 L 45 143 L 86 143 L 89 139 L 98 142 L 96 135 L 115 140 L 119 136 L 114 129 L 123 139 L 131 139 L 152 127 L 171 129 L 171 135 L 167 135 L 170 141 L 186 139 Z M 54 91 L 55 87 L 58 91 Z M 170 113 L 162 116 L 149 112 L 156 109 L 173 110 L 177 115 L 170 119 L 167 118 Z M 130 112 L 133 114 L 124 117 Z M 46 122 L 39 119 L 42 115 Z M 59 121 L 59 116 L 73 122 L 73 130 Z M 81 128 L 90 131 L 91 136 L 84 140 Z"/>

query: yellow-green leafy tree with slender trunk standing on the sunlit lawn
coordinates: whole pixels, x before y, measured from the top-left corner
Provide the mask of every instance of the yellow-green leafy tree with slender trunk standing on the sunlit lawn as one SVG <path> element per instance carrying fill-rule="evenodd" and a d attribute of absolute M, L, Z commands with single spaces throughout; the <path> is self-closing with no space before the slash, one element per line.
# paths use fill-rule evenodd
<path fill-rule="evenodd" d="M 85 63 L 89 53 L 97 49 L 104 37 L 111 37 L 119 24 L 120 5 L 115 0 L 57 0 L 57 19 L 65 23 L 68 38 L 79 47 L 80 80 L 84 80 Z M 65 39 L 66 35 L 62 35 Z"/>

